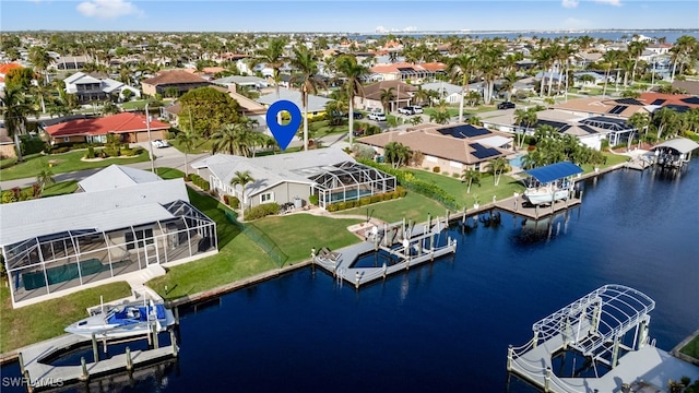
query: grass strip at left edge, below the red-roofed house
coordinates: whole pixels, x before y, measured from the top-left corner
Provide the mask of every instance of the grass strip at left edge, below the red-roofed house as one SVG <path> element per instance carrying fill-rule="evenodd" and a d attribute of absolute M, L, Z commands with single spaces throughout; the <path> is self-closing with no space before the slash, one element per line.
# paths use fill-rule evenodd
<path fill-rule="evenodd" d="M 48 167 L 49 162 L 54 162 L 51 171 L 54 175 L 71 172 L 75 170 L 104 168 L 111 164 L 127 165 L 134 163 L 143 163 L 149 160 L 149 153 L 142 150 L 141 154 L 129 158 L 107 158 L 96 162 L 83 162 L 81 158 L 85 155 L 85 151 L 74 151 L 63 154 L 47 154 L 27 158 L 24 163 L 20 163 L 13 167 L 0 170 L 0 179 L 13 180 L 24 178 L 35 178 L 44 168 Z"/>

